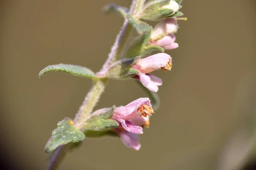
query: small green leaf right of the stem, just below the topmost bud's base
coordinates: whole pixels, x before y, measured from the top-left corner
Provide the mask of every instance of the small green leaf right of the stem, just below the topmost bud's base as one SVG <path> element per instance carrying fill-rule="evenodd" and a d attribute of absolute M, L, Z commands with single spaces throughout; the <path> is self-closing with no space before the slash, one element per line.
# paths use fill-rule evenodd
<path fill-rule="evenodd" d="M 147 23 L 135 19 L 131 14 L 127 14 L 127 20 L 131 26 L 136 29 L 138 34 L 143 34 L 144 32 L 148 31 L 148 29 L 150 29 L 150 26 Z"/>

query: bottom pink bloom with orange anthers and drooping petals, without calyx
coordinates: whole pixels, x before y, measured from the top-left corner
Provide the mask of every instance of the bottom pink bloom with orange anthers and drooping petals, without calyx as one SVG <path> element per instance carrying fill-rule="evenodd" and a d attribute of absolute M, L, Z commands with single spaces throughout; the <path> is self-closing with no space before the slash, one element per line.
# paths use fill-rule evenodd
<path fill-rule="evenodd" d="M 115 109 L 111 119 L 119 122 L 120 127 L 114 129 L 114 131 L 127 147 L 134 150 L 140 149 L 137 134 L 142 134 L 142 128 L 149 126 L 151 113 L 153 113 L 153 109 L 148 98 L 140 98 L 126 106 Z"/>

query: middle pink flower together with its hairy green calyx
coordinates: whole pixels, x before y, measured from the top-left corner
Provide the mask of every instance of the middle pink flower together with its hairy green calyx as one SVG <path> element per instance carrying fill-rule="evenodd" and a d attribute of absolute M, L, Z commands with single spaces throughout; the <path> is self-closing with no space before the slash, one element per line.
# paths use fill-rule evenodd
<path fill-rule="evenodd" d="M 171 70 L 172 68 L 172 58 L 166 53 L 154 54 L 143 59 L 138 59 L 134 63 L 131 61 L 133 60 L 119 60 L 113 63 L 109 68 L 96 73 L 96 75 L 99 78 L 109 77 L 116 79 L 133 77 L 140 80 L 140 82 L 149 90 L 157 92 L 158 86 L 162 85 L 162 80 L 149 73 L 158 69 L 166 71 Z M 128 66 L 122 68 L 122 65 Z M 132 75 L 125 74 L 125 71 L 128 71 L 130 68 L 137 70 L 137 73 L 134 72 Z"/>

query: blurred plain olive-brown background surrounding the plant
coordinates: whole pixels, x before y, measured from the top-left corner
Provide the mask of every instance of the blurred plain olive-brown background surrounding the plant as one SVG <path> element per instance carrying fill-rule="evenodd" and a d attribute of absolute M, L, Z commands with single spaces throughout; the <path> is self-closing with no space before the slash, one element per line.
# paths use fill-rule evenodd
<path fill-rule="evenodd" d="M 91 80 L 53 72 L 69 63 L 99 71 L 122 18 L 105 16 L 108 3 L 131 0 L 1 0 L 1 159 L 6 169 L 42 170 L 44 145 L 64 117 L 73 118 Z M 256 160 L 256 1 L 183 0 L 166 51 L 171 72 L 158 92 L 160 109 L 131 150 L 113 137 L 86 139 L 61 170 L 236 170 Z M 95 109 L 126 105 L 145 92 L 133 80 L 111 80 Z M 253 165 L 250 168 L 254 168 Z M 256 169 L 256 168 L 255 168 Z M 252 169 L 253 170 L 253 169 Z"/>

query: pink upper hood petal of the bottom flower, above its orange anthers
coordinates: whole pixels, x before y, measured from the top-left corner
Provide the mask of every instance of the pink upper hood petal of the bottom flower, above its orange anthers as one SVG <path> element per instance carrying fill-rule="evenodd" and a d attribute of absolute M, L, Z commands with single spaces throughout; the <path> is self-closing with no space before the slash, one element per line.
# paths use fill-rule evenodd
<path fill-rule="evenodd" d="M 129 103 L 126 106 L 121 106 L 116 108 L 116 110 L 113 113 L 112 119 L 120 122 L 123 120 L 129 120 L 133 117 L 140 116 L 138 112 L 138 108 L 140 108 L 142 105 L 147 105 L 149 107 L 152 107 L 150 104 L 150 100 L 145 98 L 140 98 L 137 100 L 134 100 L 133 102 Z"/>

